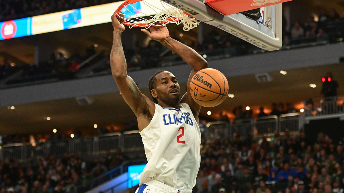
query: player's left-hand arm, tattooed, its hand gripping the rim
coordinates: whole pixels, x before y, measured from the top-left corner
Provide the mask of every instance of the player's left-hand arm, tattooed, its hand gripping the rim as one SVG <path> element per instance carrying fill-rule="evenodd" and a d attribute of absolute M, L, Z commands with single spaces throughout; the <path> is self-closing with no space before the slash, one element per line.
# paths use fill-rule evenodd
<path fill-rule="evenodd" d="M 123 24 L 114 13 L 111 16 L 114 27 L 114 41 L 110 53 L 110 65 L 119 91 L 125 102 L 130 106 L 138 119 L 139 130 L 149 125 L 155 111 L 155 105 L 148 97 L 144 96 L 135 82 L 127 75 L 127 63 L 122 47 L 122 32 L 125 30 Z"/>

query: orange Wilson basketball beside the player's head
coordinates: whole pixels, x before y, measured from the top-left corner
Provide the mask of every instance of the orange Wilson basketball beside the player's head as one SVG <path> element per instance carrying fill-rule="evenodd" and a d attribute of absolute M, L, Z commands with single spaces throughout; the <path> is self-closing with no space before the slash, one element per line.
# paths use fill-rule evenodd
<path fill-rule="evenodd" d="M 215 107 L 227 97 L 227 78 L 217 69 L 202 69 L 192 77 L 190 93 L 196 103 L 201 106 Z"/>

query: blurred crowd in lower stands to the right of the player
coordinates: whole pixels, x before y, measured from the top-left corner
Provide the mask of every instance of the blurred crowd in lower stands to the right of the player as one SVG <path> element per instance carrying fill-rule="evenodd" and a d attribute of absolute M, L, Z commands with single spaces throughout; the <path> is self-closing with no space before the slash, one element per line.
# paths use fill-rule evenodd
<path fill-rule="evenodd" d="M 194 193 L 343 193 L 343 142 L 285 132 L 201 142 Z"/>

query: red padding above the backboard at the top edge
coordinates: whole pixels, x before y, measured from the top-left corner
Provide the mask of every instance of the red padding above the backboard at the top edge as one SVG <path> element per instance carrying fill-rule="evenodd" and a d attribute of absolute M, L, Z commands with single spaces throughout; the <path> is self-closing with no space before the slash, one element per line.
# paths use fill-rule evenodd
<path fill-rule="evenodd" d="M 239 13 L 292 0 L 206 0 L 208 6 L 223 15 Z"/>

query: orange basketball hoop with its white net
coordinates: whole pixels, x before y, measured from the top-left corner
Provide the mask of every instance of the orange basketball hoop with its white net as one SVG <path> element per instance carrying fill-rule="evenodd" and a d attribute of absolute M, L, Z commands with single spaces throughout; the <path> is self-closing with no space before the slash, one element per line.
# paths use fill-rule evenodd
<path fill-rule="evenodd" d="M 160 2 L 160 3 L 157 3 Z M 139 6 L 137 5 L 139 3 Z M 140 9 L 142 6 L 142 9 Z M 149 10 L 151 9 L 151 10 Z M 148 10 L 148 11 L 147 11 Z M 153 11 L 152 11 L 153 10 Z M 155 13 L 151 16 L 148 13 Z M 146 12 L 146 13 L 143 13 Z M 117 18 L 124 20 L 122 23 L 132 27 L 164 26 L 168 23 L 183 24 L 183 30 L 195 28 L 201 21 L 190 17 L 182 10 L 175 8 L 160 0 L 126 0 L 116 10 Z"/>

